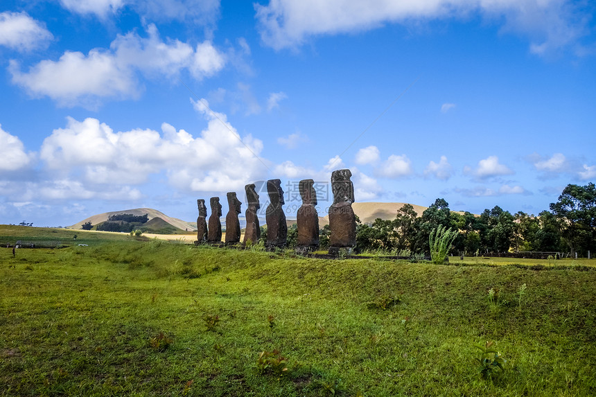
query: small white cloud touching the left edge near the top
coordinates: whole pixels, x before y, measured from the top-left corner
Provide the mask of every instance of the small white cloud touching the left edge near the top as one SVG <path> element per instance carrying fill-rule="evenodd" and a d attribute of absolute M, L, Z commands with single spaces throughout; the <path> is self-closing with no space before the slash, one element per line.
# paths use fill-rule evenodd
<path fill-rule="evenodd" d="M 25 12 L 0 12 L 0 46 L 30 51 L 51 39 L 53 35 Z"/>

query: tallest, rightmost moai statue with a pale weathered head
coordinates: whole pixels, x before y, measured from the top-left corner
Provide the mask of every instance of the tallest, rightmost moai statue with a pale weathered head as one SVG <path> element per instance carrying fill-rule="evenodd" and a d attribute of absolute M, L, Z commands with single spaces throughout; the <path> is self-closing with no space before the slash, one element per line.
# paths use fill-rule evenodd
<path fill-rule="evenodd" d="M 329 254 L 337 255 L 342 248 L 349 253 L 356 245 L 356 215 L 352 209 L 354 185 L 351 176 L 348 169 L 331 173 L 333 204 L 329 207 Z"/>

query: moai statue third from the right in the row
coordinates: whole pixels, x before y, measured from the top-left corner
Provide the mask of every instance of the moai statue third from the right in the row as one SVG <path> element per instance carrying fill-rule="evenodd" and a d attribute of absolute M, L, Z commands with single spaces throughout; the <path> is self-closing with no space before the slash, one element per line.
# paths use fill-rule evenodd
<path fill-rule="evenodd" d="M 283 248 L 286 246 L 288 237 L 288 225 L 286 224 L 286 214 L 283 213 L 281 206 L 283 202 L 283 190 L 281 190 L 281 181 L 279 179 L 269 179 L 267 181 L 267 193 L 269 193 L 270 204 L 265 211 L 265 220 L 267 221 L 267 249 Z"/>

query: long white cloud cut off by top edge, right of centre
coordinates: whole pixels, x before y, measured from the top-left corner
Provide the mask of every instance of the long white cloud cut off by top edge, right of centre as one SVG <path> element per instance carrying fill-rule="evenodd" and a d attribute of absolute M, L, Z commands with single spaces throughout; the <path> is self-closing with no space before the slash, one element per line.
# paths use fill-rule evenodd
<path fill-rule="evenodd" d="M 579 3 L 579 4 L 578 4 Z M 369 30 L 387 23 L 480 14 L 531 40 L 531 51 L 545 53 L 586 34 L 588 21 L 577 16 L 581 2 L 570 0 L 270 0 L 256 4 L 261 38 L 274 48 L 297 46 L 310 36 Z"/>

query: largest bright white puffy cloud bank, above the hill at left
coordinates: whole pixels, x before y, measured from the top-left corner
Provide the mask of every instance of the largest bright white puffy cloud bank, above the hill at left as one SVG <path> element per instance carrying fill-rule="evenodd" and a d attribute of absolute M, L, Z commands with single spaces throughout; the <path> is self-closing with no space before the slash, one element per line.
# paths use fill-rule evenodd
<path fill-rule="evenodd" d="M 53 187 L 56 194 L 71 192 L 86 198 L 77 192 L 99 191 L 100 185 L 125 189 L 161 173 L 179 191 L 230 191 L 263 173 L 265 166 L 258 159 L 261 141 L 241 137 L 225 114 L 211 112 L 204 100 L 193 106 L 207 120 L 198 137 L 168 123 L 161 125 L 161 132 L 114 132 L 96 118 L 69 118 L 67 126 L 53 130 L 40 150 L 40 159 L 55 180 L 72 182 L 62 183 L 61 189 Z M 128 189 L 129 196 L 137 195 L 138 191 Z"/>

